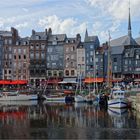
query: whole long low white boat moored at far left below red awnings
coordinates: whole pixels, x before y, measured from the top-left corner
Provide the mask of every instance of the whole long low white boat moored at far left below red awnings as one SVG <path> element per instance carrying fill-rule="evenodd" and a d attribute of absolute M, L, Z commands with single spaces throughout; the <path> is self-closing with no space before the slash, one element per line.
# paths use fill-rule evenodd
<path fill-rule="evenodd" d="M 19 92 L 1 92 L 0 101 L 27 101 L 37 100 L 37 94 L 20 94 Z"/>

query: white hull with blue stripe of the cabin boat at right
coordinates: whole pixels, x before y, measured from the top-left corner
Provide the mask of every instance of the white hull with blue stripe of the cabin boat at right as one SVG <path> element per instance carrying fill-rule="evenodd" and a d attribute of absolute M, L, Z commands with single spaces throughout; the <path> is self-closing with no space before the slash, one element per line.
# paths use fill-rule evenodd
<path fill-rule="evenodd" d="M 127 108 L 128 101 L 126 99 L 110 99 L 108 100 L 108 107 L 110 108 Z"/>

